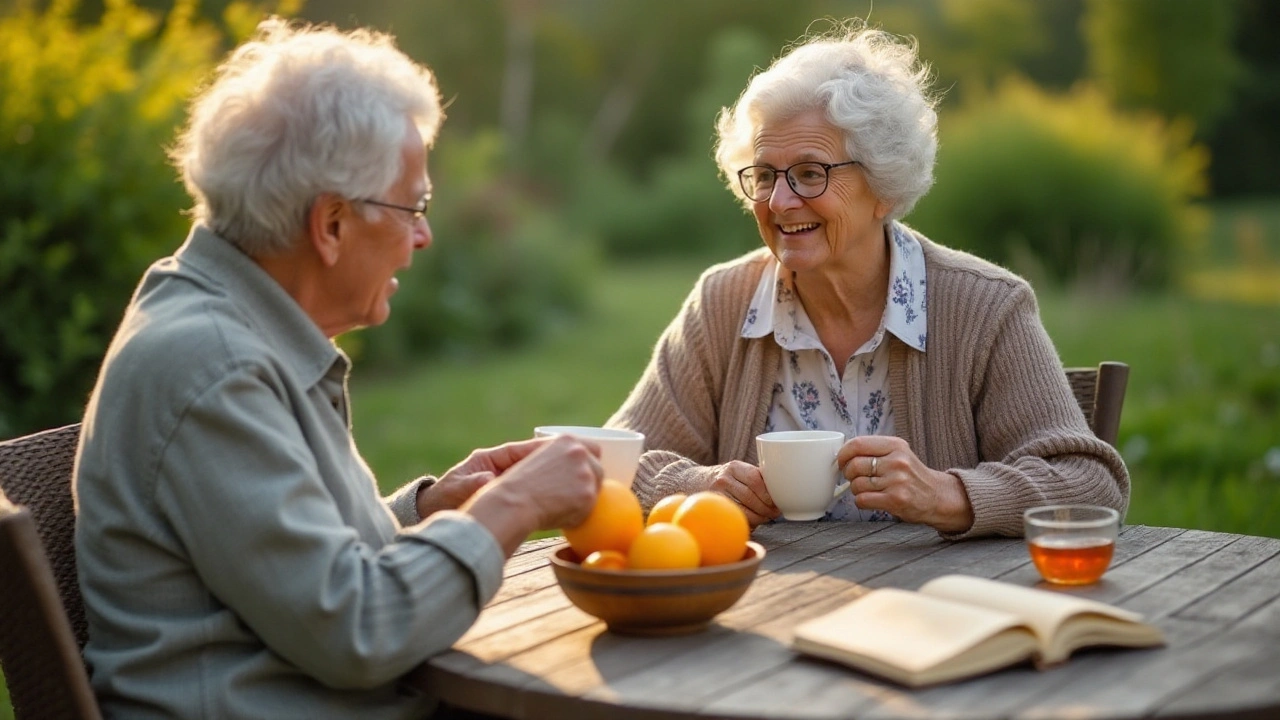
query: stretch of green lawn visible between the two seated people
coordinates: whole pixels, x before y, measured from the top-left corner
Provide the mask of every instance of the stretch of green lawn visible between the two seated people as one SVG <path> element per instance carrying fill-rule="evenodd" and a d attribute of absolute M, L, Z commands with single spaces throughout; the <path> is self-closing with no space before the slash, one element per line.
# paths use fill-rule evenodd
<path fill-rule="evenodd" d="M 532 437 L 536 425 L 603 423 L 705 263 L 614 268 L 594 311 L 532 348 L 426 360 L 394 377 L 352 377 L 357 443 L 384 489 L 443 471 L 475 447 Z"/>

